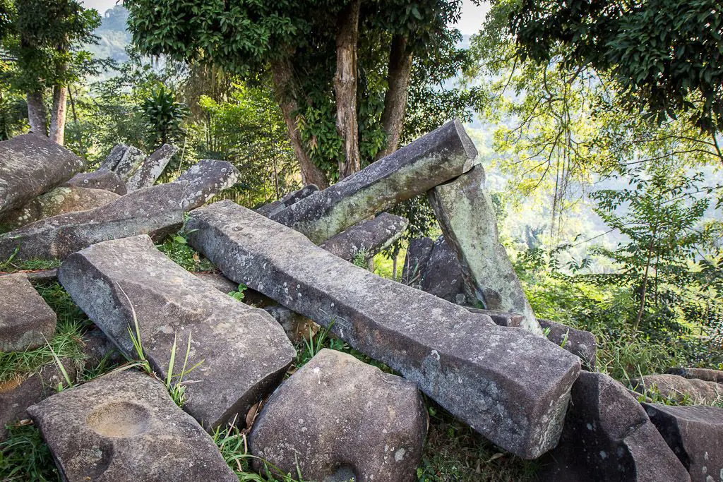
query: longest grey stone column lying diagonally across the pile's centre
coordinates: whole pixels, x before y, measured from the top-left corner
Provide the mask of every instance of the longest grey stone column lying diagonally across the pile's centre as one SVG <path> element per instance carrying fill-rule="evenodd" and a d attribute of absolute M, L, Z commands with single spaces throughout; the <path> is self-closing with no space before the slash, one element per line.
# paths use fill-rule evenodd
<path fill-rule="evenodd" d="M 555 447 L 578 358 L 542 337 L 385 280 L 233 202 L 191 212 L 189 242 L 236 283 L 313 319 L 501 447 Z"/>

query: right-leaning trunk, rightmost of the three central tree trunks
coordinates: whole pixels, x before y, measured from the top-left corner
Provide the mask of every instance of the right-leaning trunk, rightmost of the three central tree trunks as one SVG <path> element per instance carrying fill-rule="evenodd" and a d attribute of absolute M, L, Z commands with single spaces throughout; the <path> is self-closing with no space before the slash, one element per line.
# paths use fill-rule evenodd
<path fill-rule="evenodd" d="M 382 128 L 387 133 L 387 145 L 377 154 L 377 160 L 390 155 L 399 147 L 411 77 L 411 63 L 412 54 L 407 51 L 406 37 L 394 35 L 389 53 L 387 74 L 389 87 L 384 97 L 384 112 L 382 112 Z"/>

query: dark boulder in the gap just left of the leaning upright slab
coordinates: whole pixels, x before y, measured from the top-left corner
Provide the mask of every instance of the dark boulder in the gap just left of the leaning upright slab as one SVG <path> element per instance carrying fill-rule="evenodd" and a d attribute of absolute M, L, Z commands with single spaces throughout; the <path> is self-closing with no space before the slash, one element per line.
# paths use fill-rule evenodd
<path fill-rule="evenodd" d="M 422 272 L 422 284 L 419 288 L 452 303 L 467 304 L 459 259 L 445 242 L 444 236 L 437 238 L 432 246 L 432 254 Z"/>

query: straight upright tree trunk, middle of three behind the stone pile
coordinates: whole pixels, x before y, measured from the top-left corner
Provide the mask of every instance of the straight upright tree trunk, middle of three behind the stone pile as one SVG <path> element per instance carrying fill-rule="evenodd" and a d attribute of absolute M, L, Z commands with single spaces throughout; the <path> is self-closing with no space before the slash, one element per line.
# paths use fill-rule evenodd
<path fill-rule="evenodd" d="M 339 180 L 361 169 L 359 125 L 356 120 L 356 44 L 359 40 L 359 7 L 353 0 L 339 14 L 336 31 L 336 130 L 344 139 L 344 158 L 339 161 Z"/>

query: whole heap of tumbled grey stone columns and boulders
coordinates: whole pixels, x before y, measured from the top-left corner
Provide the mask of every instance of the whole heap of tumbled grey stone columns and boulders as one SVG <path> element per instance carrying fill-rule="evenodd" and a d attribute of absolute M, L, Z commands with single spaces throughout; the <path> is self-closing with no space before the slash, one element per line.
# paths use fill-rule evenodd
<path fill-rule="evenodd" d="M 427 431 L 423 392 L 502 449 L 540 458 L 542 480 L 723 481 L 723 409 L 640 403 L 594 371 L 593 335 L 535 317 L 458 121 L 328 189 L 307 186 L 255 212 L 201 207 L 238 176 L 218 161 L 153 185 L 172 150 L 145 159 L 119 146 L 99 171 L 71 178 L 81 164 L 61 147 L 35 136 L 0 143 L 0 213 L 68 179 L 119 196 L 0 235 L 0 258 L 62 259 L 57 279 L 100 330 L 88 343 L 97 351 L 110 340 L 134 357 L 133 332 L 161 379 L 173 375 L 176 343 L 190 347 L 189 365 L 202 362 L 182 409 L 132 369 L 34 398 L 17 393 L 52 374 L 0 388 L 0 420 L 27 413 L 67 480 L 234 481 L 209 432 L 236 423 L 250 431 L 254 460 L 273 468 L 257 470 L 411 481 Z M 406 220 L 384 211 L 424 193 L 443 238 L 411 244 L 405 283 L 349 262 L 398 239 Z M 189 244 L 223 277 L 187 272 L 155 248 L 186 212 Z M 265 308 L 227 296 L 237 283 Z M 2 348 L 51 337 L 54 314 L 27 277 L 0 284 Z M 325 349 L 283 381 L 296 356 L 290 337 L 312 322 L 398 375 Z M 721 375 L 664 376 L 718 390 Z M 640 390 L 659 383 L 643 379 Z"/>

